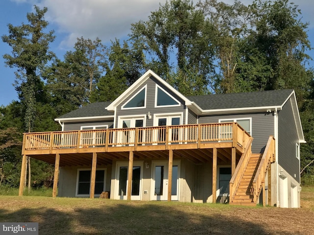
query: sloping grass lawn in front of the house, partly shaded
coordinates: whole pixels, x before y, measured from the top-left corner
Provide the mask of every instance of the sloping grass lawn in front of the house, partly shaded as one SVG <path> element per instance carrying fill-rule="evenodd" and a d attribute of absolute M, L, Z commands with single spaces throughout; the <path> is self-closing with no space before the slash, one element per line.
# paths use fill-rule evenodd
<path fill-rule="evenodd" d="M 300 209 L 180 202 L 0 196 L 1 222 L 38 222 L 39 234 L 314 234 L 314 188 Z"/>

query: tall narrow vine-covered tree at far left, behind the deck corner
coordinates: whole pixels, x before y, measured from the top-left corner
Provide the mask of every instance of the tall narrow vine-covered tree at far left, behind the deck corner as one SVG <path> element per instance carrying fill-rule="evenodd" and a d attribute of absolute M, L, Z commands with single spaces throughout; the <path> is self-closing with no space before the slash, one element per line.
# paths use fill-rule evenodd
<path fill-rule="evenodd" d="M 25 107 L 24 127 L 27 132 L 31 132 L 34 128 L 36 93 L 42 83 L 38 73 L 52 59 L 53 53 L 49 51 L 49 44 L 54 40 L 53 31 L 44 32 L 48 26 L 48 22 L 44 19 L 48 8 L 40 9 L 35 5 L 34 9 L 34 13 L 26 15 L 29 24 L 22 23 L 20 26 L 8 24 L 9 34 L 2 36 L 2 41 L 12 47 L 12 55 L 5 54 L 3 58 L 7 66 L 17 69 L 16 90 L 20 92 L 19 96 Z M 28 159 L 26 165 L 28 165 L 28 188 L 30 188 Z"/>

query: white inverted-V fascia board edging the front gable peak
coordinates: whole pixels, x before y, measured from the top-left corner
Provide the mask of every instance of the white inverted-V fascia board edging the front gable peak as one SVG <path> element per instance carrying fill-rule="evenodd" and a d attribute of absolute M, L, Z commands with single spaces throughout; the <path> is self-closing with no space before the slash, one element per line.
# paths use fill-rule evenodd
<path fill-rule="evenodd" d="M 158 76 L 152 70 L 146 71 L 139 79 L 137 79 L 124 93 L 122 93 L 118 98 L 116 98 L 109 106 L 105 109 L 109 111 L 115 111 L 117 105 L 121 103 L 127 96 L 129 96 L 138 86 L 143 84 L 150 76 L 155 77 L 160 83 L 162 83 L 165 87 L 171 90 L 174 94 L 178 95 L 181 99 L 184 100 L 185 105 L 190 105 L 191 101 L 187 99 L 183 94 L 178 92 L 172 86 L 170 86 L 165 80 L 163 80 L 160 76 Z"/>

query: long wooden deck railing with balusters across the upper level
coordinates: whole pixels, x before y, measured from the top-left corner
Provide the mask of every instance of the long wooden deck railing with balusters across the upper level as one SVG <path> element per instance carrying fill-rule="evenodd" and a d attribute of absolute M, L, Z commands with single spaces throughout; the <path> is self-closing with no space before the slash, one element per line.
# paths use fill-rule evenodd
<path fill-rule="evenodd" d="M 25 133 L 25 150 L 110 147 L 235 141 L 245 146 L 250 135 L 237 123 L 209 123 Z"/>

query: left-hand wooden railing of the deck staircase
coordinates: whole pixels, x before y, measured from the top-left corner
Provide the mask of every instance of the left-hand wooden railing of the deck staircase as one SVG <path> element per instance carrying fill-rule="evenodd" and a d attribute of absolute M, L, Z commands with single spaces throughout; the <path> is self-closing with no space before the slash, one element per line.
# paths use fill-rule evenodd
<path fill-rule="evenodd" d="M 241 158 L 235 168 L 235 172 L 233 176 L 231 177 L 230 183 L 229 183 L 229 192 L 230 192 L 230 202 L 233 201 L 235 197 L 235 191 L 238 188 L 240 184 L 240 180 L 244 174 L 245 168 L 250 160 L 250 156 L 252 154 L 251 151 L 251 144 L 253 141 L 253 137 L 249 138 L 249 141 L 247 142 L 244 152 L 241 155 Z"/>

